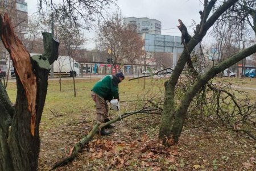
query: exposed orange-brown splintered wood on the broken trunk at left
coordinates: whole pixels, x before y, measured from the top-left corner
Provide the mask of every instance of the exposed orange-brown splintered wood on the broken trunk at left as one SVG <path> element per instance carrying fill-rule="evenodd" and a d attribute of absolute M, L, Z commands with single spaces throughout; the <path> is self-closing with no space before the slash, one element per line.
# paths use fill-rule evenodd
<path fill-rule="evenodd" d="M 30 53 L 23 46 L 18 37 L 14 34 L 11 27 L 10 19 L 7 14 L 1 15 L 1 39 L 5 48 L 10 53 L 11 60 L 16 70 L 16 74 L 26 91 L 28 110 L 31 112 L 31 134 L 35 135 L 35 118 L 36 118 L 36 77 L 32 71 Z"/>

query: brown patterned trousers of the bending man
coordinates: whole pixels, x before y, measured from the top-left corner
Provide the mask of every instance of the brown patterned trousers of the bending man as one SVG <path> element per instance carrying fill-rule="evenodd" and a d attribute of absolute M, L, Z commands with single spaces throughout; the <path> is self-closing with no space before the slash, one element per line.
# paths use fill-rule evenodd
<path fill-rule="evenodd" d="M 103 97 L 91 91 L 92 99 L 96 105 L 96 120 L 98 123 L 104 123 L 105 119 L 109 119 L 109 106 Z"/>

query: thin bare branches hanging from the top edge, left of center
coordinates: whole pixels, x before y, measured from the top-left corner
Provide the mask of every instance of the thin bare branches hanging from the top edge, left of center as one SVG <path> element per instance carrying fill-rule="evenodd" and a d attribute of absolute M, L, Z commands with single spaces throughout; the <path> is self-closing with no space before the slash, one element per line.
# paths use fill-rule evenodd
<path fill-rule="evenodd" d="M 104 12 L 108 13 L 110 5 L 114 4 L 113 0 L 75 0 L 75 1 L 59 1 L 55 3 L 53 1 L 39 0 L 39 13 L 43 18 L 47 11 L 53 12 L 58 15 L 58 20 L 69 20 L 75 24 L 76 27 L 89 29 L 93 26 L 93 23 L 103 18 Z M 49 10 L 50 8 L 50 10 Z"/>

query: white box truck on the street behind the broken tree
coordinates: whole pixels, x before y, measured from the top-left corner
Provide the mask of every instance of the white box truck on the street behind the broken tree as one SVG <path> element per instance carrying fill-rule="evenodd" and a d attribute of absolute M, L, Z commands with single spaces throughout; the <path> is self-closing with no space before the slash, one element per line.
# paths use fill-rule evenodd
<path fill-rule="evenodd" d="M 41 54 L 30 53 L 30 55 L 33 56 Z M 55 76 L 60 75 L 61 77 L 76 77 L 80 75 L 80 65 L 72 57 L 59 56 L 58 59 L 54 61 L 52 65 Z"/>

